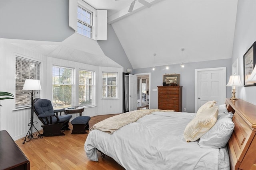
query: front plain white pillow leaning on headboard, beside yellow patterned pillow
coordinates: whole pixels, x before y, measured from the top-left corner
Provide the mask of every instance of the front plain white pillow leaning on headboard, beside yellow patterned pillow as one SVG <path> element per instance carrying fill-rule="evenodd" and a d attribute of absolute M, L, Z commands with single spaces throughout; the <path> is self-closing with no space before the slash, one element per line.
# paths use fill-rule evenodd
<path fill-rule="evenodd" d="M 218 119 L 215 125 L 199 140 L 201 148 L 225 147 L 234 130 L 235 124 L 229 117 Z"/>

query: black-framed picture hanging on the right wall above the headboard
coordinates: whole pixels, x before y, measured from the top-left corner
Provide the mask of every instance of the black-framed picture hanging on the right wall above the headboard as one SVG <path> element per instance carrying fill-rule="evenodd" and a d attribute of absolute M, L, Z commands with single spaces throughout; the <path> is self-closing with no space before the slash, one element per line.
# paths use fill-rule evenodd
<path fill-rule="evenodd" d="M 255 83 L 246 82 L 252 74 L 252 70 L 256 65 L 256 41 L 244 54 L 244 86 L 255 86 Z"/>

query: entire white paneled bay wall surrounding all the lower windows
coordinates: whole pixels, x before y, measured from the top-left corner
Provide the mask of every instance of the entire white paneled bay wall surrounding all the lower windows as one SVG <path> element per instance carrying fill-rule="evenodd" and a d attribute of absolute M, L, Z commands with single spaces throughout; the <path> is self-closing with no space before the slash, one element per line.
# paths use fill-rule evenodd
<path fill-rule="evenodd" d="M 41 62 L 40 82 L 42 90 L 40 98 L 48 98 L 52 100 L 52 65 L 65 66 L 75 68 L 75 73 L 78 74 L 79 69 L 95 71 L 95 107 L 85 108 L 82 115 L 95 116 L 102 114 L 122 113 L 122 72 L 123 68 L 99 67 L 89 64 L 77 63 L 62 59 L 47 57 L 39 53 L 24 49 L 18 44 L 12 43 L 10 39 L 0 39 L 0 91 L 10 92 L 15 94 L 15 57 L 25 57 Z M 102 72 L 118 72 L 118 98 L 102 100 Z M 75 82 L 78 89 L 78 80 Z M 78 92 L 74 92 L 78 95 Z M 0 107 L 0 130 L 6 130 L 10 133 L 14 140 L 18 140 L 26 136 L 29 129 L 31 109 L 15 109 L 15 100 L 1 100 Z M 75 101 L 75 105 L 78 101 Z M 110 108 L 111 106 L 111 108 Z M 72 119 L 79 114 L 72 114 Z M 41 122 L 34 115 L 35 125 L 38 130 L 42 129 Z"/>

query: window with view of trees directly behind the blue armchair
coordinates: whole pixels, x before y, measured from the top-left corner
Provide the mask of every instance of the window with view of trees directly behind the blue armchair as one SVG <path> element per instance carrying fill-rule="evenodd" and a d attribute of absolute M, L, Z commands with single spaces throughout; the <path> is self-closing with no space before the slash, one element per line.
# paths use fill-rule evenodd
<path fill-rule="evenodd" d="M 73 105 L 73 68 L 52 67 L 52 103 L 54 108 Z"/>

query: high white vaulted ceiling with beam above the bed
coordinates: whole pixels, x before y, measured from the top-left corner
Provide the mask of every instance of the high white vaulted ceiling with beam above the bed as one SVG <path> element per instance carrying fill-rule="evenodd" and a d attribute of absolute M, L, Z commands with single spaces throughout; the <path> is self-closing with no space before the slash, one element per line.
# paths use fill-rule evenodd
<path fill-rule="evenodd" d="M 237 0 L 146 0 L 150 8 L 136 1 L 131 13 L 132 0 L 84 1 L 108 10 L 134 69 L 232 56 Z"/>

